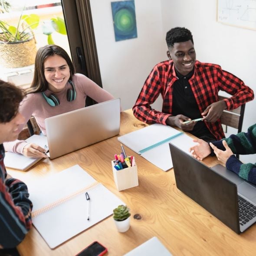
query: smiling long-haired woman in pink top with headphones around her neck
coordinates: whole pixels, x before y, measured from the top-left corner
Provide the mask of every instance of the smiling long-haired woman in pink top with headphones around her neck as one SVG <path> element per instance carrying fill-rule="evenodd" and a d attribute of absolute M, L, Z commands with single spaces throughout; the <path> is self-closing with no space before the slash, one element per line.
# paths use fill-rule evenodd
<path fill-rule="evenodd" d="M 114 98 L 85 75 L 75 73 L 72 61 L 64 49 L 47 45 L 39 48 L 36 53 L 33 82 L 26 90 L 20 113 L 26 122 L 33 115 L 42 134 L 46 135 L 46 118 L 83 108 L 87 95 L 96 102 Z M 23 125 L 20 125 L 19 131 L 22 128 Z M 28 157 L 47 157 L 44 148 L 26 141 L 6 143 L 5 149 Z"/>

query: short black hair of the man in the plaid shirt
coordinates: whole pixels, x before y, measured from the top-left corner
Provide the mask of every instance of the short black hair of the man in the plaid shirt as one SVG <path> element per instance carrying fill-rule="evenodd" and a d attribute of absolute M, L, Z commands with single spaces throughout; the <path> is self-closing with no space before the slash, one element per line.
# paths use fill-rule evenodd
<path fill-rule="evenodd" d="M 168 48 L 173 47 L 174 43 L 187 42 L 189 40 L 191 40 L 191 42 L 194 44 L 193 36 L 190 30 L 184 27 L 172 28 L 166 33 L 165 39 Z"/>

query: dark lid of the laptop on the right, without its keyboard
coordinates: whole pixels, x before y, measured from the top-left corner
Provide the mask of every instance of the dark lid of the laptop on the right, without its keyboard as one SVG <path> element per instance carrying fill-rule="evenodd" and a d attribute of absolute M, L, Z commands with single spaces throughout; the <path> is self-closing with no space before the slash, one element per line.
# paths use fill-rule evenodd
<path fill-rule="evenodd" d="M 177 188 L 240 233 L 236 185 L 173 144 L 169 145 Z"/>

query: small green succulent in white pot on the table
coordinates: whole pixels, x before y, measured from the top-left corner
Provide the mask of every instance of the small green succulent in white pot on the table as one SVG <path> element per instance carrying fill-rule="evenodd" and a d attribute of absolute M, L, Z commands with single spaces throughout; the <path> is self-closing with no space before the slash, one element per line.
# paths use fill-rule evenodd
<path fill-rule="evenodd" d="M 113 210 L 113 213 L 118 232 L 126 232 L 130 228 L 130 209 L 125 205 L 119 205 Z"/>

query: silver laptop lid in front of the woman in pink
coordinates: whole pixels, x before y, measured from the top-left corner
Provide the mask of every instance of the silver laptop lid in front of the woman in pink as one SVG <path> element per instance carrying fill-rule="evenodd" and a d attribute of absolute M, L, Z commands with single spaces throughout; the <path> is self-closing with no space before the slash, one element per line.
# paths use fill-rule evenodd
<path fill-rule="evenodd" d="M 57 158 L 120 131 L 120 98 L 45 119 L 49 157 Z"/>

